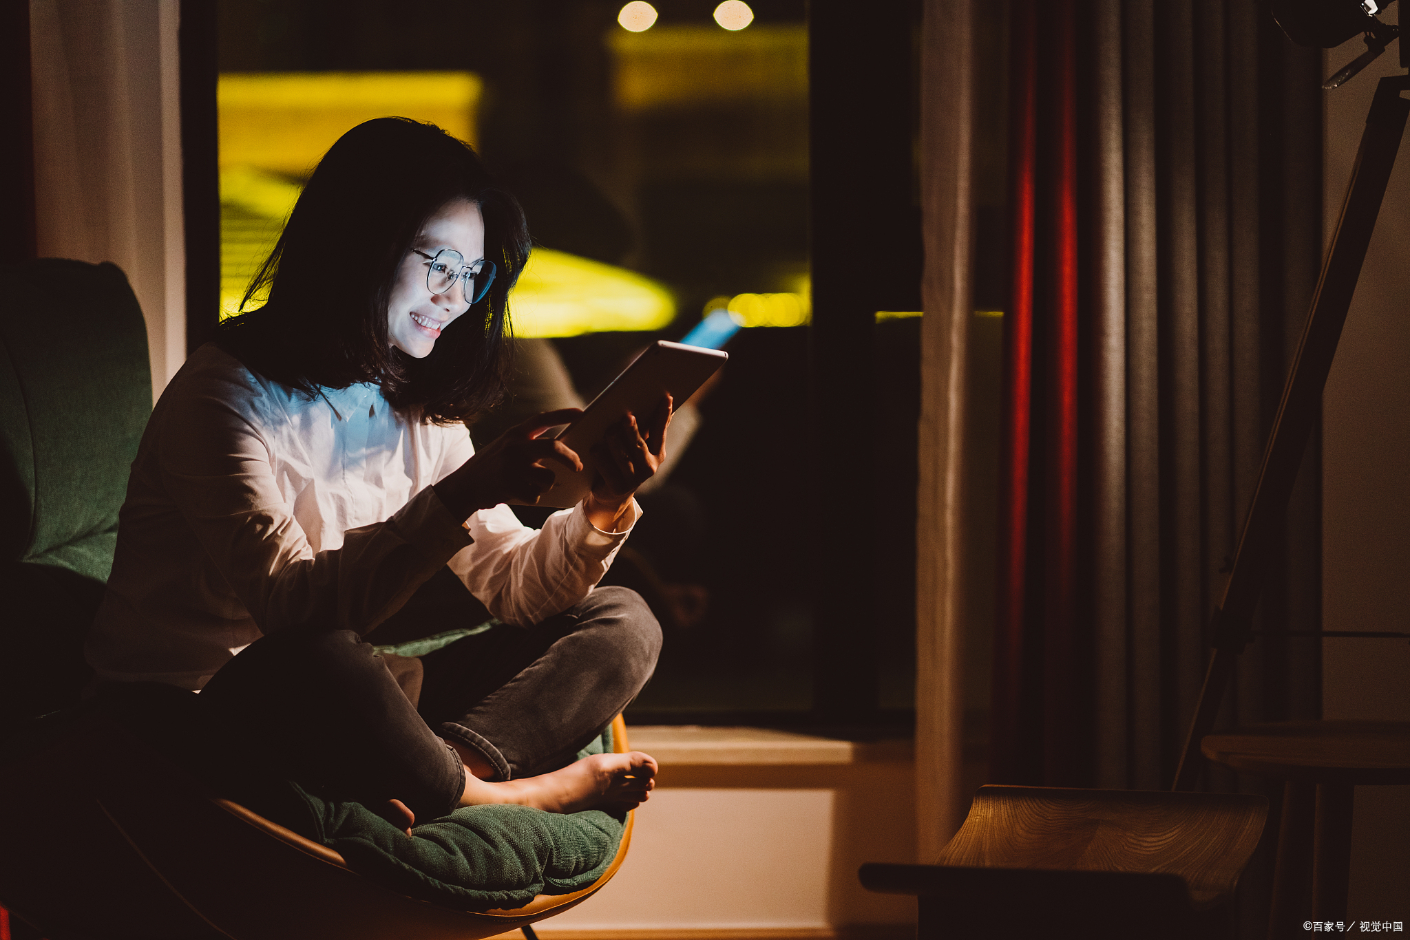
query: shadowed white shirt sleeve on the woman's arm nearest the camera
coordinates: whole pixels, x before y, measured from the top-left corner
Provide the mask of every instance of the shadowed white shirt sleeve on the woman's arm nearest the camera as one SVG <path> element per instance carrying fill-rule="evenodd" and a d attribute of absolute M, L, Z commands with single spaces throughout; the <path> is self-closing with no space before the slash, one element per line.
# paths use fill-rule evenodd
<path fill-rule="evenodd" d="M 470 544 L 427 488 L 385 521 L 348 530 L 341 548 L 314 554 L 252 409 L 241 407 L 248 395 L 217 383 L 182 396 L 164 416 L 158 466 L 162 489 L 261 631 L 367 633 Z"/>

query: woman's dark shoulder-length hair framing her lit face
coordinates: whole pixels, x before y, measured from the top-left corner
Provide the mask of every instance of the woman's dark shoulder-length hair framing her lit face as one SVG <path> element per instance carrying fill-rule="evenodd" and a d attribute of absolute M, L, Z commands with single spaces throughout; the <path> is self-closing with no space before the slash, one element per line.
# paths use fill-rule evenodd
<path fill-rule="evenodd" d="M 412 242 L 446 203 L 485 220 L 489 293 L 447 326 L 430 355 L 391 345 L 388 300 Z M 498 403 L 510 375 L 509 289 L 529 259 L 523 210 L 467 144 L 434 124 L 379 117 L 338 138 L 299 194 L 244 303 L 216 342 L 250 369 L 307 395 L 372 382 L 399 412 L 436 424 Z"/>

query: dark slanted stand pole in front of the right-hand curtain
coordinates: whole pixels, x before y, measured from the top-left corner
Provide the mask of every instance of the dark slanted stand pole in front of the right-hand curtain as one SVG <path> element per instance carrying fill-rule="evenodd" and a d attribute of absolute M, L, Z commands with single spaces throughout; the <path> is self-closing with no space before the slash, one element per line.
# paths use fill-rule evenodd
<path fill-rule="evenodd" d="M 1404 52 L 1402 49 L 1402 55 Z M 1234 555 L 1234 568 L 1224 588 L 1224 599 L 1214 610 L 1214 654 L 1204 675 L 1204 686 L 1200 689 L 1194 720 L 1175 777 L 1172 789 L 1176 791 L 1194 789 L 1203 767 L 1200 741 L 1214 730 L 1214 717 L 1224 700 L 1234 664 L 1252 638 L 1253 607 L 1258 605 L 1263 572 L 1275 547 L 1277 523 L 1287 513 L 1297 468 L 1321 409 L 1327 373 L 1337 355 L 1341 328 L 1356 290 L 1356 279 L 1366 258 L 1380 202 L 1386 194 L 1390 169 L 1400 149 L 1406 118 L 1410 117 L 1410 101 L 1400 97 L 1407 89 L 1410 89 L 1410 75 L 1380 79 L 1366 116 L 1366 130 L 1361 137 L 1361 149 L 1351 172 L 1351 186 L 1342 203 L 1337 234 L 1317 283 L 1311 316 L 1297 347 L 1287 385 L 1283 386 L 1283 400 L 1277 407 L 1268 450 L 1263 452 L 1253 505 L 1244 523 L 1244 534 Z M 1335 634 L 1328 631 L 1320 636 Z"/>

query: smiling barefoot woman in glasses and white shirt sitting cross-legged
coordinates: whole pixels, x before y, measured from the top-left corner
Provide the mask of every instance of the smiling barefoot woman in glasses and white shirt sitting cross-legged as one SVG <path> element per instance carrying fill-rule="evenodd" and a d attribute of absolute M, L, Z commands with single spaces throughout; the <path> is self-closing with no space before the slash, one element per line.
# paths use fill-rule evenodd
<path fill-rule="evenodd" d="M 644 800 L 646 754 L 570 761 L 656 664 L 640 598 L 594 585 L 661 461 L 670 402 L 613 428 L 582 505 L 517 523 L 503 503 L 534 502 L 547 464 L 581 468 L 541 437 L 577 409 L 478 454 L 465 430 L 502 396 L 527 254 L 522 211 L 467 145 L 406 118 L 344 134 L 251 287 L 266 304 L 226 321 L 152 412 L 87 640 L 97 678 L 199 691 L 230 765 L 407 826 L 475 803 Z M 523 629 L 423 660 L 361 641 L 443 567 Z"/>

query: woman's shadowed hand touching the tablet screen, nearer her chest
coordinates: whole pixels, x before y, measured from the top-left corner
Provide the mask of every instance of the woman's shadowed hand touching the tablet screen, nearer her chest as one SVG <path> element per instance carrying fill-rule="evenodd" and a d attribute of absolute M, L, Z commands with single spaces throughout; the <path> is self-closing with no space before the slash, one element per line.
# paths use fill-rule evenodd
<path fill-rule="evenodd" d="M 537 503 L 554 481 L 547 461 L 557 461 L 571 471 L 582 469 L 582 461 L 572 448 L 540 434 L 580 414 L 582 409 L 558 409 L 515 424 L 436 483 L 436 495 L 455 519 L 470 519 L 481 509 L 510 499 Z"/>

